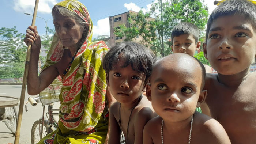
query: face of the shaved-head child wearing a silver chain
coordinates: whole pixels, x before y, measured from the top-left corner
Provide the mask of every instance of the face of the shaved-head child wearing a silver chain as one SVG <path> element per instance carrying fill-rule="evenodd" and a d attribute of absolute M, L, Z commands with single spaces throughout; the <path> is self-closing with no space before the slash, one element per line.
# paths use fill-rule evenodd
<path fill-rule="evenodd" d="M 150 85 L 147 84 L 147 97 L 155 112 L 164 120 L 186 120 L 204 101 L 205 95 L 200 90 L 200 65 L 195 66 L 195 62 L 188 63 L 193 65 L 175 60 L 158 64 L 150 77 Z"/>

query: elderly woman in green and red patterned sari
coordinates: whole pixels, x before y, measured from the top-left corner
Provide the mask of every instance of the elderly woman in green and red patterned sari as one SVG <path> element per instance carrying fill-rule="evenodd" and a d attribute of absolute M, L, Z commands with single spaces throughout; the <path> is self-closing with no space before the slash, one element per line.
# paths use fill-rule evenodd
<path fill-rule="evenodd" d="M 39 76 L 41 41 L 36 26 L 28 27 L 24 39 L 27 45 L 33 43 L 28 93 L 37 95 L 59 75 L 63 85 L 59 95 L 58 128 L 38 144 L 104 143 L 108 131 L 105 98 L 111 102 L 112 96 L 106 87 L 101 61 L 109 48 L 103 41 L 91 42 L 93 24 L 86 7 L 79 1 L 57 3 L 52 16 L 56 33 Z"/>

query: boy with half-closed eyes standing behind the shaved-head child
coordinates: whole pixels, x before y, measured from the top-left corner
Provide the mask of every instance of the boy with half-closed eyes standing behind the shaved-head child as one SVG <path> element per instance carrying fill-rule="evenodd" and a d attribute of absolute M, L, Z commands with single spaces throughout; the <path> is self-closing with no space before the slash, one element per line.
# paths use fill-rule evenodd
<path fill-rule="evenodd" d="M 199 50 L 199 29 L 195 24 L 183 22 L 177 24 L 172 30 L 172 51 L 173 53 L 187 53 L 194 56 Z M 204 65 L 207 73 L 212 73 L 211 67 Z"/>

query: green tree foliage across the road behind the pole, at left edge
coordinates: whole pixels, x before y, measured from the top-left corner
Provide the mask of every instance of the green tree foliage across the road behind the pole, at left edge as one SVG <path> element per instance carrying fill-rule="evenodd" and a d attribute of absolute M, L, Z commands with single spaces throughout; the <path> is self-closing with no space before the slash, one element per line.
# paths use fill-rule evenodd
<path fill-rule="evenodd" d="M 55 30 L 47 27 L 47 31 L 50 35 L 41 36 L 41 45 L 49 50 Z M 0 78 L 23 76 L 27 54 L 24 38 L 25 34 L 18 33 L 15 26 L 0 29 Z M 46 57 L 40 56 L 40 60 L 44 62 Z"/>

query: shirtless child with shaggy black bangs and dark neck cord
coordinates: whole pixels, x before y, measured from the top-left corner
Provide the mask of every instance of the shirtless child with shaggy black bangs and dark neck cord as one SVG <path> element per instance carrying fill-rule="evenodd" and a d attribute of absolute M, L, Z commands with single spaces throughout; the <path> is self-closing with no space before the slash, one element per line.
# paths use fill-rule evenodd
<path fill-rule="evenodd" d="M 155 62 L 154 54 L 146 47 L 123 42 L 112 47 L 103 60 L 106 82 L 117 102 L 109 111 L 108 144 L 142 144 L 143 128 L 156 114 L 151 102 L 142 95 Z"/>

